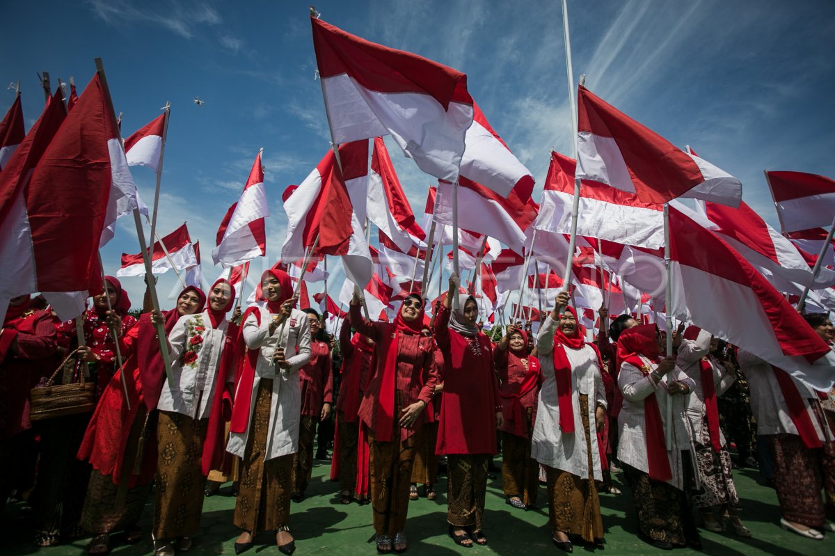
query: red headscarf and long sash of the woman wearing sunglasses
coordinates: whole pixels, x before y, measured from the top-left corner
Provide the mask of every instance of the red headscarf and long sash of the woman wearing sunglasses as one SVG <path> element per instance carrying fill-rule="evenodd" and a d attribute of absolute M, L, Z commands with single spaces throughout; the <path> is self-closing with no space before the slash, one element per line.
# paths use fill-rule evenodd
<path fill-rule="evenodd" d="M 417 299 L 416 296 L 409 296 L 406 299 Z M 381 335 L 377 343 L 377 361 L 382 361 L 382 381 L 380 382 L 380 395 L 377 397 L 377 440 L 389 442 L 392 439 L 392 420 L 394 416 L 394 390 L 397 382 L 397 354 L 401 334 L 420 334 L 423 330 L 423 305 L 417 318 L 413 321 L 406 321 L 402 317 L 402 310 L 397 311 L 397 318 L 392 325 L 394 337 L 389 338 Z"/>

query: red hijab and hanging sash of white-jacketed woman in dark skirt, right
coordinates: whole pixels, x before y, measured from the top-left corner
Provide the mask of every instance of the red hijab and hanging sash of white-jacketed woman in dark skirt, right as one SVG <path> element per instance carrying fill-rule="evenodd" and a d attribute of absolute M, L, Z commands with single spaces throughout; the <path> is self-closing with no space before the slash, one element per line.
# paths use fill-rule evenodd
<path fill-rule="evenodd" d="M 655 330 L 654 324 L 633 326 L 620 334 L 617 349 L 619 369 L 623 363 L 629 363 L 640 369 L 644 375 L 650 374 L 650 366 L 646 365 L 640 356 L 645 356 L 650 361 L 658 361 L 658 341 Z M 667 458 L 664 422 L 661 421 L 655 392 L 644 399 L 644 427 L 650 478 L 656 481 L 669 481 L 673 478 L 673 473 L 670 469 L 670 460 Z"/>

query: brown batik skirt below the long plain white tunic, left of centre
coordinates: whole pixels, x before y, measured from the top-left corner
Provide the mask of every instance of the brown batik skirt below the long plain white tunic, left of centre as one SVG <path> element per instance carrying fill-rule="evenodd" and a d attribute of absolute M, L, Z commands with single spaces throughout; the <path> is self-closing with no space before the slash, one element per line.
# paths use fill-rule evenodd
<path fill-rule="evenodd" d="M 290 519 L 290 475 L 293 454 L 264 461 L 270 432 L 272 381 L 261 379 L 256 394 L 244 457 L 233 523 L 255 535 L 286 525 Z"/>

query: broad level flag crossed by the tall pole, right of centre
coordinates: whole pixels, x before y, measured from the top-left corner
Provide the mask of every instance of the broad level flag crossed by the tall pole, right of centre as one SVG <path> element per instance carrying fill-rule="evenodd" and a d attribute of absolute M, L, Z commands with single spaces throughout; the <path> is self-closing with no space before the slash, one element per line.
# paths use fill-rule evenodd
<path fill-rule="evenodd" d="M 534 222 L 537 230 L 557 234 L 571 232 L 576 165 L 574 159 L 557 152 L 551 153 L 542 205 Z M 583 180 L 579 192 L 577 235 L 650 249 L 664 245 L 664 215 L 661 205 L 640 201 L 633 193 L 589 179 Z M 539 234 L 537 240 L 540 240 Z"/>

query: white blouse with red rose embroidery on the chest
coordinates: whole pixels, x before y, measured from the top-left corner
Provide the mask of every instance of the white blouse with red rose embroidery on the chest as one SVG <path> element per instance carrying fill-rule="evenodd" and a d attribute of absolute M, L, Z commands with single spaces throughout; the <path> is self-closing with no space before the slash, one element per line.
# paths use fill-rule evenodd
<path fill-rule="evenodd" d="M 196 366 L 183 368 L 180 357 L 185 353 L 189 341 L 189 325 L 197 326 L 197 315 L 180 316 L 168 335 L 171 344 L 171 379 L 166 380 L 159 394 L 159 409 L 164 412 L 181 413 L 192 419 L 207 419 L 211 412 L 212 397 L 215 396 L 215 381 L 220 370 L 220 356 L 229 321 L 225 319 L 217 328 L 211 327 L 209 311 L 199 314 L 205 326 L 203 343 L 197 352 Z M 233 382 L 233 369 L 226 370 L 226 382 Z"/>

